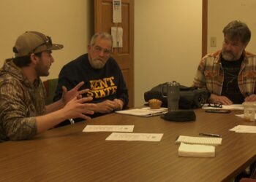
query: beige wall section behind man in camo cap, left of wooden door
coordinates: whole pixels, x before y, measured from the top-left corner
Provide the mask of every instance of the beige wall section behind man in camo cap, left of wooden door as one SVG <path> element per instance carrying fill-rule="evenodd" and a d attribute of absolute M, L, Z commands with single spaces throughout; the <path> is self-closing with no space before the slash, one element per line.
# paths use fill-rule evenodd
<path fill-rule="evenodd" d="M 40 31 L 53 42 L 64 44 L 63 50 L 53 52 L 55 62 L 48 79 L 57 77 L 64 64 L 87 52 L 94 31 L 93 15 L 90 0 L 1 0 L 0 65 L 12 58 L 12 47 L 20 34 Z"/>

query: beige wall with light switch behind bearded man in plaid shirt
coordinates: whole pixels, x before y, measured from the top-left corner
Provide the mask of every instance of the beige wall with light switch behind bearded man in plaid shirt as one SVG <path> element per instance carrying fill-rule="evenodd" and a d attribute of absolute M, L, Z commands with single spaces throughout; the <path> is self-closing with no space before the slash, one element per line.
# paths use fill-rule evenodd
<path fill-rule="evenodd" d="M 222 48 L 222 30 L 232 20 L 241 20 L 246 23 L 252 38 L 246 50 L 256 53 L 256 19 L 255 0 L 208 0 L 208 52 Z M 210 47 L 211 37 L 217 37 L 217 47 Z"/>

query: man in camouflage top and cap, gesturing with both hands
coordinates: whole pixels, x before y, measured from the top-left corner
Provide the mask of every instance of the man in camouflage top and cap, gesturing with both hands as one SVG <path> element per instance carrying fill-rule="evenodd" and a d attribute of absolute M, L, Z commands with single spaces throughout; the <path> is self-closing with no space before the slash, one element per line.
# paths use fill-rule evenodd
<path fill-rule="evenodd" d="M 36 31 L 23 33 L 13 47 L 15 58 L 7 59 L 0 70 L 0 141 L 32 138 L 66 119 L 93 114 L 92 98 L 81 98 L 80 82 L 72 90 L 63 87 L 61 100 L 45 106 L 45 87 L 39 76 L 48 76 L 53 63 L 52 50 L 63 45 L 53 44 L 50 36 Z"/>

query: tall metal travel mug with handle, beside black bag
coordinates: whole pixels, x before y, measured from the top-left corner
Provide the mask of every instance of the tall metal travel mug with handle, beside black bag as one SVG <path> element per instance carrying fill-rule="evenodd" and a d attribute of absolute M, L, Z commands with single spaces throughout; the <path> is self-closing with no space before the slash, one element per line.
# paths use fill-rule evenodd
<path fill-rule="evenodd" d="M 163 90 L 166 87 L 167 95 L 163 94 Z M 178 110 L 178 100 L 180 97 L 179 83 L 178 82 L 167 82 L 162 87 L 162 96 L 167 98 L 168 112 Z"/>

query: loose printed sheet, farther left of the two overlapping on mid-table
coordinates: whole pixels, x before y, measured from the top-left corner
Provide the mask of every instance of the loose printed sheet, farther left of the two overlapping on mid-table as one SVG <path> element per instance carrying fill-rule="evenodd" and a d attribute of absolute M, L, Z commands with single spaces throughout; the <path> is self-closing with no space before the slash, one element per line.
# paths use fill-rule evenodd
<path fill-rule="evenodd" d="M 134 125 L 87 125 L 83 132 L 132 132 Z"/>

